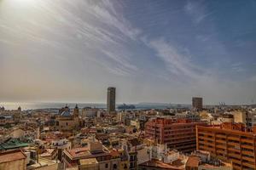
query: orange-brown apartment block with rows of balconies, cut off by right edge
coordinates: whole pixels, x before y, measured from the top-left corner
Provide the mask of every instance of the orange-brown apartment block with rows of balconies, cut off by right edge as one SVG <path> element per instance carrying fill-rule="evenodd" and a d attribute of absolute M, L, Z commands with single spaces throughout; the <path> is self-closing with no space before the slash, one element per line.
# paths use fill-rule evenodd
<path fill-rule="evenodd" d="M 207 150 L 236 169 L 256 169 L 256 127 L 225 122 L 220 126 L 196 127 L 196 149 Z"/>

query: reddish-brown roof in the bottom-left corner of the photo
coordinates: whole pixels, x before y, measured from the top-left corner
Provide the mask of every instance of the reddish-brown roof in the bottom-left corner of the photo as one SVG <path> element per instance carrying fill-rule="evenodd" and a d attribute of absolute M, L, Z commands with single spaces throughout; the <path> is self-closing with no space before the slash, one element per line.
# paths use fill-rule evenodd
<path fill-rule="evenodd" d="M 0 163 L 26 159 L 26 155 L 21 150 L 12 150 L 0 153 Z"/>

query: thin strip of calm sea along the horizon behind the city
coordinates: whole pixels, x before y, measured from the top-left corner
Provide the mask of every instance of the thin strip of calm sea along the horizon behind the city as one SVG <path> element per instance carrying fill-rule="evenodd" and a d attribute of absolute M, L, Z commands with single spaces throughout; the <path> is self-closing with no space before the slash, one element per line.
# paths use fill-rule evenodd
<path fill-rule="evenodd" d="M 6 110 L 16 110 L 19 106 L 22 110 L 34 110 L 34 109 L 48 109 L 56 108 L 59 109 L 68 105 L 69 107 L 75 107 L 76 103 L 0 103 L 0 107 L 4 107 Z M 79 103 L 79 108 L 84 107 L 96 107 L 96 108 L 107 108 L 106 104 L 99 103 Z M 166 109 L 175 107 L 175 105 L 170 104 L 134 104 L 137 109 Z"/>

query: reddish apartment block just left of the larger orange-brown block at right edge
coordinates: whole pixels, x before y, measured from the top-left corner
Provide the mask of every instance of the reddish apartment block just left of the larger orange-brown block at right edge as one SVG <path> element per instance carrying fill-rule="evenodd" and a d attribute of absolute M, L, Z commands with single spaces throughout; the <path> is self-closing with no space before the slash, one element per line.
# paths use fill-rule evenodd
<path fill-rule="evenodd" d="M 191 152 L 196 148 L 195 126 L 204 122 L 191 122 L 172 118 L 156 118 L 145 124 L 146 136 L 171 150 Z"/>

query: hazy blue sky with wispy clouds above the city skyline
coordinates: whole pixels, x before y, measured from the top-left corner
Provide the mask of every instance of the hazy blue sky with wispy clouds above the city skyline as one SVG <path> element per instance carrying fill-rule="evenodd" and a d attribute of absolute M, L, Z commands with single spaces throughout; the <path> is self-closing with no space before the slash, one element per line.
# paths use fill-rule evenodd
<path fill-rule="evenodd" d="M 0 101 L 256 103 L 255 0 L 0 0 Z"/>

